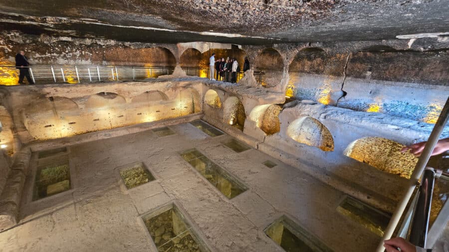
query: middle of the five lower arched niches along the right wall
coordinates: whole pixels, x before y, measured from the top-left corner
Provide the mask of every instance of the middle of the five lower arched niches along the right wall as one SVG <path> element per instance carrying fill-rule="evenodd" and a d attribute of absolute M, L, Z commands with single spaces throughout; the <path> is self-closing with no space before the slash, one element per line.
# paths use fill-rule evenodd
<path fill-rule="evenodd" d="M 255 106 L 249 119 L 256 123 L 267 135 L 272 135 L 280 131 L 279 113 L 282 110 L 281 106 L 276 104 L 265 104 Z"/>

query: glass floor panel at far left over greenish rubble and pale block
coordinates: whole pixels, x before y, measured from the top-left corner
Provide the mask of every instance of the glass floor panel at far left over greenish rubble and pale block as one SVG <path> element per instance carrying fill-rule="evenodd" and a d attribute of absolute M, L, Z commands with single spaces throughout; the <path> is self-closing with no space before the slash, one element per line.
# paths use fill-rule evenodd
<path fill-rule="evenodd" d="M 33 200 L 45 198 L 69 189 L 70 169 L 68 162 L 37 168 Z"/>

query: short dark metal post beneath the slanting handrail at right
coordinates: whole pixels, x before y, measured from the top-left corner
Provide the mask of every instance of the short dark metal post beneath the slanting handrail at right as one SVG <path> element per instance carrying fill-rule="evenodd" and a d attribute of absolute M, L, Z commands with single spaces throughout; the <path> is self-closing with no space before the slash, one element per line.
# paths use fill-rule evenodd
<path fill-rule="evenodd" d="M 415 212 L 413 213 L 409 238 L 409 242 L 421 248 L 426 248 L 434 183 L 434 168 L 426 168 L 418 192 L 418 202 L 416 204 Z"/>

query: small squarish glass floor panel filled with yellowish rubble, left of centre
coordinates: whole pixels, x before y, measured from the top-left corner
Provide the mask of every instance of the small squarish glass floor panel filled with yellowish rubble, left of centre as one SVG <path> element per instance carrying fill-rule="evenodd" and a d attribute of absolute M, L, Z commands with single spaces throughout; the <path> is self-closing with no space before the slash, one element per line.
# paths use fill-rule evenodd
<path fill-rule="evenodd" d="M 153 174 L 143 163 L 120 169 L 120 177 L 122 177 L 123 183 L 128 189 L 155 180 Z"/>

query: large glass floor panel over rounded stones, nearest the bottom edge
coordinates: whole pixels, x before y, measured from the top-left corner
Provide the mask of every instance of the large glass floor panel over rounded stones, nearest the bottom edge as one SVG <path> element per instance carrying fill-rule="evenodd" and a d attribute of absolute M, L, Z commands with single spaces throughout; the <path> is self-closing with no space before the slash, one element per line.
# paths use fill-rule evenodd
<path fill-rule="evenodd" d="M 208 252 L 175 204 L 142 217 L 160 252 Z"/>

